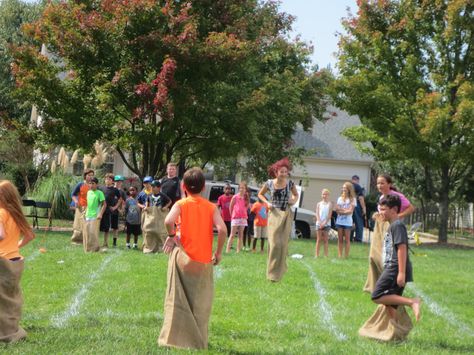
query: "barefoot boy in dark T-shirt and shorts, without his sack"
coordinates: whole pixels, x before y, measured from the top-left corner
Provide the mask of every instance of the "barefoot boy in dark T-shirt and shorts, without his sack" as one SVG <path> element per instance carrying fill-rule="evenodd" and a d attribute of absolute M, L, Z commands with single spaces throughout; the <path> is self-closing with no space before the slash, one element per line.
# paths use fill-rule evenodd
<path fill-rule="evenodd" d="M 407 229 L 398 219 L 400 207 L 401 201 L 396 195 L 388 195 L 380 201 L 380 213 L 390 222 L 390 227 L 384 239 L 384 270 L 375 284 L 372 301 L 385 305 L 393 319 L 396 319 L 396 306 L 409 306 L 418 321 L 421 300 L 402 296 L 405 284 L 413 281 L 413 271 L 408 258 Z"/>

